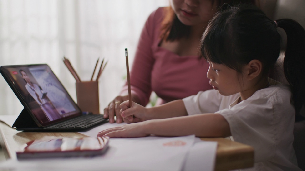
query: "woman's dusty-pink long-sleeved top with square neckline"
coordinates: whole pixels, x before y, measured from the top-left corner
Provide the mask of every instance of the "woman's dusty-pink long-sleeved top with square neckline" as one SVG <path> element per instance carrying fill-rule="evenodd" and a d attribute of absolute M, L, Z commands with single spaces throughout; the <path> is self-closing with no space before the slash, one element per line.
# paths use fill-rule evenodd
<path fill-rule="evenodd" d="M 151 92 L 167 103 L 211 89 L 209 63 L 199 56 L 179 56 L 159 47 L 163 9 L 152 12 L 142 30 L 130 72 L 131 93 L 146 106 Z M 127 94 L 127 84 L 121 95 Z"/>

